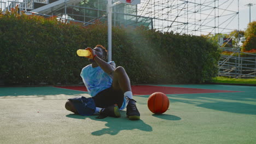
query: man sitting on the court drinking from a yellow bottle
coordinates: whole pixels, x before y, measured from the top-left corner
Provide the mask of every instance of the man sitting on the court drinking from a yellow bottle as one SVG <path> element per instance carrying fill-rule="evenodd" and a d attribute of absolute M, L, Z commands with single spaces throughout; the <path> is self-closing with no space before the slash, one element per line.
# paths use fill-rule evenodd
<path fill-rule="evenodd" d="M 139 119 L 140 114 L 132 98 L 130 79 L 125 69 L 116 68 L 113 61 L 104 61 L 107 50 L 102 45 L 96 45 L 94 49 L 87 47 L 86 50 L 91 52 L 88 56 L 91 64 L 82 69 L 80 76 L 91 98 L 68 99 L 66 109 L 82 116 L 100 113 L 97 118 L 105 118 L 120 117 L 119 110 L 125 109 L 127 105 L 126 116 Z M 92 112 L 88 112 L 88 107 L 92 107 Z"/>

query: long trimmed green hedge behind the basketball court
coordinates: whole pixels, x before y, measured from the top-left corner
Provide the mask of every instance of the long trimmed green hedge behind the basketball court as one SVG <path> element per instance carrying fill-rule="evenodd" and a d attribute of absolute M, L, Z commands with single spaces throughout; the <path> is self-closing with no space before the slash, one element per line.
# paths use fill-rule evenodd
<path fill-rule="evenodd" d="M 113 61 L 134 83 L 200 83 L 218 73 L 218 46 L 205 38 L 147 30 L 112 29 Z M 61 23 L 55 17 L 0 14 L 0 80 L 5 85 L 77 84 L 89 64 L 76 51 L 107 47 L 107 26 Z"/>

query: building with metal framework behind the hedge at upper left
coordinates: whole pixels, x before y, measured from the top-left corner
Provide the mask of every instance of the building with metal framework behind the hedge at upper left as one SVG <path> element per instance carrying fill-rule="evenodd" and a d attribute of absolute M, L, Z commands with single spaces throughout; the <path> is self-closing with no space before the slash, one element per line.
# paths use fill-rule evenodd
<path fill-rule="evenodd" d="M 117 1 L 114 1 L 117 2 Z M 107 0 L 0 0 L 3 11 L 19 6 L 26 14 L 54 15 L 79 22 L 107 21 Z M 137 15 L 137 5 L 113 7 L 113 26 L 146 26 L 153 28 L 153 19 Z"/>

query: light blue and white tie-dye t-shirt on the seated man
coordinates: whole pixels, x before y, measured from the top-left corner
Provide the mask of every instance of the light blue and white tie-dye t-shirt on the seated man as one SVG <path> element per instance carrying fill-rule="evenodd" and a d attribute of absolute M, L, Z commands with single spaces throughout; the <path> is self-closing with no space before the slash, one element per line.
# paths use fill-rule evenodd
<path fill-rule="evenodd" d="M 108 63 L 115 64 L 113 61 Z M 94 97 L 97 93 L 111 87 L 113 81 L 112 78 L 101 69 L 101 67 L 92 68 L 91 64 L 82 69 L 80 76 L 82 77 L 84 85 L 91 97 Z"/>

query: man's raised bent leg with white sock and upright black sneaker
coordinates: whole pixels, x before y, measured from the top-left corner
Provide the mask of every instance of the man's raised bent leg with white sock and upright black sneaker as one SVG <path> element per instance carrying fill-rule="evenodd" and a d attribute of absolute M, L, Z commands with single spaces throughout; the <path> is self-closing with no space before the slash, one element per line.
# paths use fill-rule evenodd
<path fill-rule="evenodd" d="M 129 119 L 139 119 L 140 114 L 136 107 L 136 101 L 132 98 L 130 79 L 123 67 L 117 67 L 114 70 L 112 87 L 113 89 L 121 89 L 123 91 L 124 97 L 127 99 L 127 117 Z"/>

